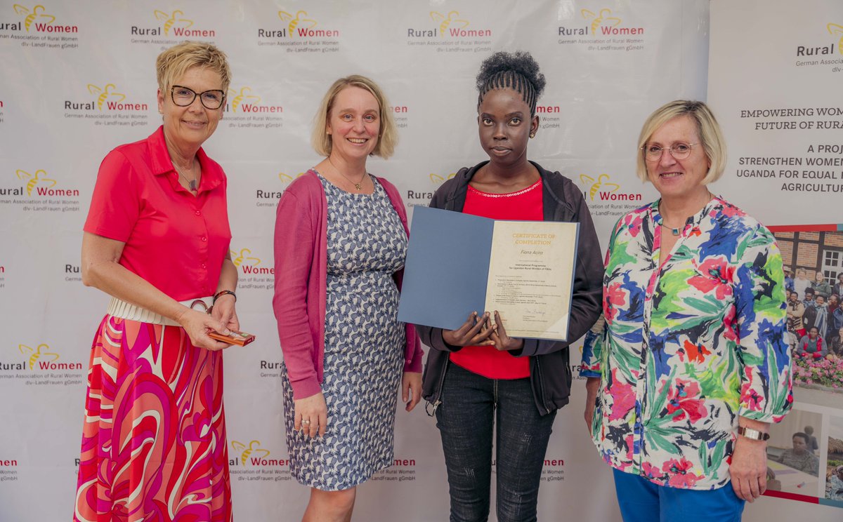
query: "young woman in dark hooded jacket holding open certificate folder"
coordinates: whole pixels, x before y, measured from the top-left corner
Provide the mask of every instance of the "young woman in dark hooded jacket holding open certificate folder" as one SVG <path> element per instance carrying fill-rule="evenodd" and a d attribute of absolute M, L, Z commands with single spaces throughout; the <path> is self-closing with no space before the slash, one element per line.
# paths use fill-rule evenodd
<path fill-rule="evenodd" d="M 477 124 L 489 159 L 462 168 L 430 206 L 500 220 L 580 223 L 569 339 L 599 317 L 599 242 L 580 189 L 527 160 L 539 130 L 545 77 L 529 53 L 498 52 L 477 76 Z M 541 468 L 556 410 L 568 402 L 568 343 L 510 338 L 497 311 L 477 311 L 457 330 L 418 326 L 432 350 L 422 393 L 442 435 L 452 520 L 486 520 L 492 428 L 497 424 L 497 519 L 536 519 Z"/>

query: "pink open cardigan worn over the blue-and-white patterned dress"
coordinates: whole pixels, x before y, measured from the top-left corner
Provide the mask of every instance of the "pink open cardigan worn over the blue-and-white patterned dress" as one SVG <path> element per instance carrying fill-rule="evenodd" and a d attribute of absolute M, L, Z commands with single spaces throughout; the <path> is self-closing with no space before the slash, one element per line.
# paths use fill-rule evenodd
<path fill-rule="evenodd" d="M 377 178 L 409 235 L 404 203 L 393 184 Z M 322 391 L 325 359 L 325 280 L 327 279 L 328 208 L 325 190 L 314 171 L 297 178 L 278 201 L 275 221 L 275 296 L 272 309 L 287 365 L 293 398 Z M 395 273 L 401 288 L 404 270 Z M 406 325 L 404 371 L 421 371 L 421 342 Z"/>

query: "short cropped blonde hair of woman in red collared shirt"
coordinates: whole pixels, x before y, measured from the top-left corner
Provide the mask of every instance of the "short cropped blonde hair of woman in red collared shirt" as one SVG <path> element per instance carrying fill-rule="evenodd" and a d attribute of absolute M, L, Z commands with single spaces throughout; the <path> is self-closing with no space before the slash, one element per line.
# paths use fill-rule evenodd
<path fill-rule="evenodd" d="M 176 81 L 193 67 L 216 72 L 223 80 L 221 87 L 223 93 L 228 93 L 228 86 L 231 84 L 231 69 L 228 67 L 225 53 L 211 44 L 185 41 L 162 52 L 155 61 L 158 88 L 165 97 Z"/>

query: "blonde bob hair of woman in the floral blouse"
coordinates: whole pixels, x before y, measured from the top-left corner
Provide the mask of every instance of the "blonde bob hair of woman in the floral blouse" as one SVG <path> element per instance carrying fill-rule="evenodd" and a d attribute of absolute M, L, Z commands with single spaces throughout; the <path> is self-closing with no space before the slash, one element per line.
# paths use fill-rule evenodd
<path fill-rule="evenodd" d="M 702 184 L 710 184 L 722 176 L 726 168 L 726 142 L 723 140 L 720 125 L 711 114 L 711 109 L 703 102 L 677 99 L 656 109 L 644 122 L 641 134 L 638 136 L 636 173 L 642 183 L 647 183 L 648 180 L 647 163 L 644 161 L 642 146 L 647 145 L 647 141 L 662 125 L 679 116 L 690 116 L 690 119 L 694 120 L 703 151 L 706 152 L 709 166 L 706 177 L 702 178 Z"/>

